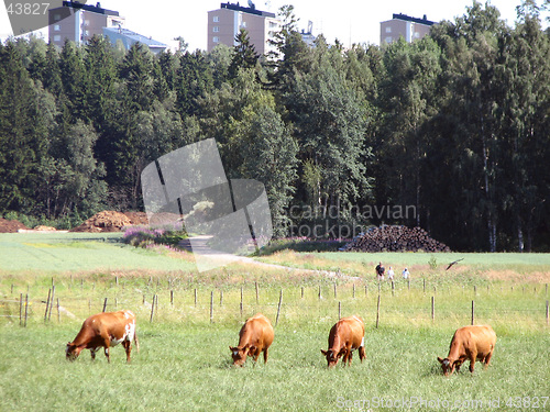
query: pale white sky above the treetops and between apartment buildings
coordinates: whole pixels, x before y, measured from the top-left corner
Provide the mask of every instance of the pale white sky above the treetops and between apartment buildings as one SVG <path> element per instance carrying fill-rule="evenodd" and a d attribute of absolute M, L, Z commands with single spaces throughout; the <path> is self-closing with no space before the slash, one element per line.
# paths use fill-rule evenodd
<path fill-rule="evenodd" d="M 253 0 L 254 1 L 254 0 Z M 521 0 L 491 0 L 501 11 L 502 19 L 514 26 L 516 7 Z M 34 1 L 33 1 L 34 2 Z M 145 2 L 142 0 L 100 0 L 101 7 L 117 10 L 127 19 L 125 26 L 145 36 L 175 47 L 175 37 L 183 36 L 189 49 L 206 49 L 208 11 L 220 8 L 220 0 L 179 0 L 169 3 Z M 227 1 L 223 1 L 227 2 Z M 237 3 L 237 0 L 231 1 Z M 246 0 L 240 0 L 246 5 Z M 483 1 L 482 1 L 483 2 Z M 96 4 L 96 1 L 88 1 Z M 293 4 L 299 19 L 298 29 L 307 29 L 314 23 L 314 35 L 322 33 L 329 43 L 338 38 L 344 46 L 353 43 L 380 44 L 380 23 L 391 20 L 393 13 L 414 18 L 427 15 L 428 20 L 454 21 L 464 15 L 473 0 L 393 0 L 393 1 L 328 1 L 328 0 L 255 0 L 257 10 L 276 13 L 284 4 Z M 541 4 L 542 0 L 538 0 Z M 168 7 L 169 4 L 169 7 Z M 544 23 L 544 26 L 548 23 Z M 47 36 L 47 31 L 43 31 Z M 0 38 L 12 34 L 6 8 L 0 4 Z"/>

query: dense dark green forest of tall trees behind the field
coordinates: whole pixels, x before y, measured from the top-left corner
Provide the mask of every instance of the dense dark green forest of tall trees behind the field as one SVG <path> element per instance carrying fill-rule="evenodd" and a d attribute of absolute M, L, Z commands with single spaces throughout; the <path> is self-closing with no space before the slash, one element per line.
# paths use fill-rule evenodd
<path fill-rule="evenodd" d="M 191 52 L 180 38 L 158 55 L 103 37 L 62 49 L 10 38 L 0 216 L 61 227 L 143 210 L 143 168 L 215 137 L 229 178 L 265 185 L 278 237 L 404 224 L 453 250 L 549 252 L 543 10 L 525 0 L 512 27 L 474 1 L 414 43 L 346 48 L 322 35 L 306 45 L 286 5 L 266 56 L 244 30 L 234 47 Z"/>

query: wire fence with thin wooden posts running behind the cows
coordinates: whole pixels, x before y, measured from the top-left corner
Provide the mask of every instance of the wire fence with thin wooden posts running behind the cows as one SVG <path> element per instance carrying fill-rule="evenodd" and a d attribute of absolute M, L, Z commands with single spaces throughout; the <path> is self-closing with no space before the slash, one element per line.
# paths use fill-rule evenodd
<path fill-rule="evenodd" d="M 139 288 L 138 286 L 143 286 Z M 339 319 L 351 314 L 363 316 L 365 324 L 410 322 L 524 323 L 549 325 L 548 285 L 464 286 L 428 283 L 425 279 L 400 282 L 345 282 L 339 285 L 275 288 L 257 281 L 241 287 L 189 288 L 174 279 L 150 278 L 145 285 L 119 281 L 90 286 L 82 281 L 62 285 L 52 280 L 42 287 L 10 293 L 0 299 L 0 322 L 19 322 L 21 326 L 37 322 L 81 322 L 98 312 L 130 309 L 140 322 L 242 321 L 262 312 L 274 325 L 308 323 Z M 41 296 L 38 296 L 41 294 Z"/>

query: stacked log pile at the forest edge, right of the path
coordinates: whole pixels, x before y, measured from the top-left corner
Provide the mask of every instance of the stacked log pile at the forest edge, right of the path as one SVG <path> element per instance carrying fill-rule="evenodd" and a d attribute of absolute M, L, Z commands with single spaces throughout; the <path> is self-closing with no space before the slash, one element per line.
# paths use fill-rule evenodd
<path fill-rule="evenodd" d="M 421 227 L 370 227 L 341 248 L 344 252 L 451 252 L 443 243 L 431 238 Z"/>

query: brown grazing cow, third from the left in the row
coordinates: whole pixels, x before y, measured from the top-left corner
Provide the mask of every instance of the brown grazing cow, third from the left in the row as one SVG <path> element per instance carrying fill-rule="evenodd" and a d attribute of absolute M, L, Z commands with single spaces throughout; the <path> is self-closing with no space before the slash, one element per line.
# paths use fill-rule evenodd
<path fill-rule="evenodd" d="M 328 367 L 333 367 L 343 355 L 343 364 L 351 365 L 353 350 L 359 348 L 361 361 L 365 358 L 365 325 L 359 316 L 342 318 L 330 330 L 329 349 L 321 349 L 327 357 Z"/>

